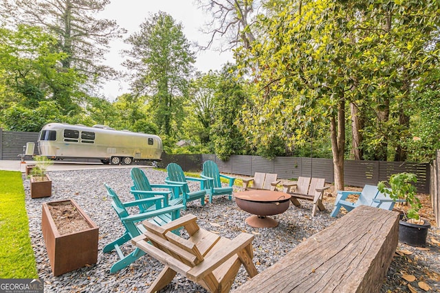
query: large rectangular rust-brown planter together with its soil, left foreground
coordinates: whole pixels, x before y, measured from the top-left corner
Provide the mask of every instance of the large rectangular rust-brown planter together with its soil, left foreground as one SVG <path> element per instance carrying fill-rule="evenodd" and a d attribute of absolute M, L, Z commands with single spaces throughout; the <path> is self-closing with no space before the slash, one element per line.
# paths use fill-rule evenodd
<path fill-rule="evenodd" d="M 43 203 L 41 229 L 54 276 L 98 261 L 98 226 L 72 199 Z"/>

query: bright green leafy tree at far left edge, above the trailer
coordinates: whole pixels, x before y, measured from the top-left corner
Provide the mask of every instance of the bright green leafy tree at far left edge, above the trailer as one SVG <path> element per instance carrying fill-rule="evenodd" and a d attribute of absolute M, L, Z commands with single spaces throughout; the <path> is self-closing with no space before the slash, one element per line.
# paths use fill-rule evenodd
<path fill-rule="evenodd" d="M 67 58 L 54 51 L 56 38 L 39 27 L 18 25 L 15 30 L 0 29 L 0 69 L 10 93 L 5 104 L 19 102 L 36 108 L 39 102 L 52 100 L 63 106 L 63 114 L 77 113 L 71 97 L 83 95 L 78 85 L 83 81 L 74 69 L 63 69 Z M 8 102 L 7 102 L 8 101 Z"/>

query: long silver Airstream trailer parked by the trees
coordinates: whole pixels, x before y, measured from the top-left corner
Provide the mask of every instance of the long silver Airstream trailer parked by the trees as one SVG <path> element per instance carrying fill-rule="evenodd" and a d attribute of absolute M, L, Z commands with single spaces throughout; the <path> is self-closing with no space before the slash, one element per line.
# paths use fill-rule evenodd
<path fill-rule="evenodd" d="M 100 159 L 102 163 L 130 165 L 133 161 L 160 160 L 162 140 L 154 134 L 104 125 L 50 123 L 41 129 L 38 149 L 50 159 Z"/>

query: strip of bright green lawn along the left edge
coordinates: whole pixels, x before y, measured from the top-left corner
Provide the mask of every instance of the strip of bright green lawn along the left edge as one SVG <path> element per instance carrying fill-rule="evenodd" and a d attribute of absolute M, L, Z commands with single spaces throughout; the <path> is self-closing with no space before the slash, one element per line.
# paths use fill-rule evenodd
<path fill-rule="evenodd" d="M 38 278 L 21 172 L 0 171 L 0 279 Z"/>

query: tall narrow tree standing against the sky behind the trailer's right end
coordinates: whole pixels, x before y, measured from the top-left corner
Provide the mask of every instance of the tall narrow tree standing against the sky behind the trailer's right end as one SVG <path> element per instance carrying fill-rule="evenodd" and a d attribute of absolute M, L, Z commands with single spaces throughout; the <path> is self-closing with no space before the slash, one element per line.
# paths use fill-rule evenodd
<path fill-rule="evenodd" d="M 181 128 L 183 105 L 194 53 L 182 32 L 181 23 L 165 12 L 151 16 L 140 25 L 140 32 L 129 36 L 124 66 L 133 70 L 131 87 L 135 95 L 151 96 L 147 103 L 159 131 L 175 135 Z"/>

